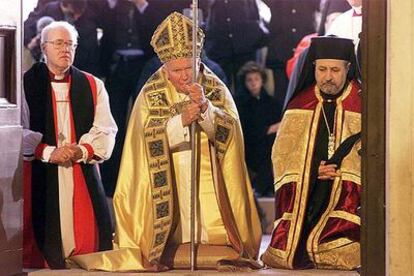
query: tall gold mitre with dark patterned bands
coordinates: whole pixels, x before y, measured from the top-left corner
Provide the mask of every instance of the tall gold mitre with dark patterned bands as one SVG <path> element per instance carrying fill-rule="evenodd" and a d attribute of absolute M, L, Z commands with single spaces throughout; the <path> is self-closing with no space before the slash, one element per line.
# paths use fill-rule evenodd
<path fill-rule="evenodd" d="M 173 12 L 157 27 L 151 46 L 162 63 L 177 58 L 192 58 L 193 22 L 178 12 Z M 197 57 L 203 48 L 204 33 L 197 27 Z"/>

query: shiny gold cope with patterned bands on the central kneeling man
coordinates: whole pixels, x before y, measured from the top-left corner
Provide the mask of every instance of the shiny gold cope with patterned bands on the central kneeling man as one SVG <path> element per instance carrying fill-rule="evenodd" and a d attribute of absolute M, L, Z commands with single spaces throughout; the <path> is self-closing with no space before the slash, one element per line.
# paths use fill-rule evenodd
<path fill-rule="evenodd" d="M 214 139 L 209 140 L 200 129 L 197 132 L 200 186 L 214 187 L 214 196 L 200 197 L 200 204 L 215 200 L 219 211 L 201 215 L 216 217 L 224 224 L 225 240 L 218 235 L 215 241 L 212 231 L 212 244 L 227 245 L 240 258 L 255 260 L 262 233 L 244 163 L 238 113 L 228 89 L 209 69 L 202 68 L 199 83 L 219 112 Z M 181 112 L 183 105 L 185 102 L 180 102 L 162 69 L 141 90 L 128 124 L 114 195 L 114 250 L 72 258 L 77 265 L 105 271 L 165 269 L 163 254 L 173 246 L 172 236 L 179 221 L 175 183 L 178 167 L 168 147 L 166 123 Z M 205 175 L 209 177 L 203 178 Z"/>

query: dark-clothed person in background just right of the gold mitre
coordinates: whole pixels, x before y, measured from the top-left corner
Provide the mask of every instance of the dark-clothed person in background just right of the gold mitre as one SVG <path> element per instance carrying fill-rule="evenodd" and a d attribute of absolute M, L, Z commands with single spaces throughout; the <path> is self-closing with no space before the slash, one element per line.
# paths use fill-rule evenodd
<path fill-rule="evenodd" d="M 200 7 L 207 14 L 207 56 L 224 70 L 235 94 L 237 72 L 247 61 L 256 60 L 269 31 L 256 0 L 200 0 Z"/>

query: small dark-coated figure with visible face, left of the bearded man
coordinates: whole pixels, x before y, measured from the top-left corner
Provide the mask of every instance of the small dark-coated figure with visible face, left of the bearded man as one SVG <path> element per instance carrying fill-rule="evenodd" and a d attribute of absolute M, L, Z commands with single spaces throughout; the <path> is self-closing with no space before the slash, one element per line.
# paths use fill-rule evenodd
<path fill-rule="evenodd" d="M 257 196 L 273 196 L 271 151 L 282 105 L 264 89 L 266 74 L 256 62 L 239 71 L 237 109 L 243 128 L 246 164 Z"/>

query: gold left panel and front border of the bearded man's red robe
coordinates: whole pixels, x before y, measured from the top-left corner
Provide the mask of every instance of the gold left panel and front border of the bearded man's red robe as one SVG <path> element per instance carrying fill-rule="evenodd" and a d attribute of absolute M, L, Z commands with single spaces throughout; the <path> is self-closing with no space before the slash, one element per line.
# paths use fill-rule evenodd
<path fill-rule="evenodd" d="M 320 109 L 320 107 L 319 107 Z M 294 251 L 299 240 L 300 231 L 295 231 L 301 227 L 301 218 L 304 216 L 304 205 L 306 204 L 306 190 L 308 179 L 306 172 L 310 169 L 308 148 L 313 144 L 309 141 L 314 139 L 316 128 L 312 128 L 312 122 L 318 120 L 318 110 L 288 110 L 282 120 L 281 135 L 278 135 L 272 149 L 272 161 L 274 164 L 275 187 L 279 189 L 284 184 L 296 182 L 296 193 L 292 214 L 289 215 L 291 225 L 288 232 L 286 250 L 282 251 L 269 247 L 266 254 L 270 254 L 266 263 L 275 267 L 293 268 Z M 277 152 L 278 154 L 274 154 Z M 284 214 L 285 215 L 285 214 Z M 284 216 L 283 215 L 283 216 Z M 272 256 L 273 255 L 273 256 Z M 275 259 L 275 256 L 277 258 Z M 274 259 L 274 260 L 272 260 Z"/>

